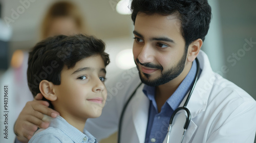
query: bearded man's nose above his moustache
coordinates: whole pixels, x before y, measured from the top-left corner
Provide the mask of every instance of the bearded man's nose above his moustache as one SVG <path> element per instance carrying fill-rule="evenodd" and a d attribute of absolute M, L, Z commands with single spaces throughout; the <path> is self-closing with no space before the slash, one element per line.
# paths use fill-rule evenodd
<path fill-rule="evenodd" d="M 141 47 L 138 59 L 141 63 L 150 63 L 154 60 L 154 49 L 150 45 L 144 45 Z"/>

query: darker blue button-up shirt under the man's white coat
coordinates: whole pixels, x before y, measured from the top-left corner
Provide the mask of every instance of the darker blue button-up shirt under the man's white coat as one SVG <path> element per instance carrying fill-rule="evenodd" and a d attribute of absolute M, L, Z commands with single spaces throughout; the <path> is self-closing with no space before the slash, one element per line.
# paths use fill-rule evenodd
<path fill-rule="evenodd" d="M 145 142 L 159 142 L 162 143 L 169 125 L 170 116 L 177 109 L 193 86 L 193 81 L 196 76 L 197 63 L 193 62 L 190 71 L 185 79 L 181 82 L 176 91 L 170 96 L 161 108 L 160 113 L 157 109 L 155 100 L 155 87 L 144 85 L 143 92 L 150 100 L 150 109 L 148 112 L 148 122 L 146 129 Z"/>

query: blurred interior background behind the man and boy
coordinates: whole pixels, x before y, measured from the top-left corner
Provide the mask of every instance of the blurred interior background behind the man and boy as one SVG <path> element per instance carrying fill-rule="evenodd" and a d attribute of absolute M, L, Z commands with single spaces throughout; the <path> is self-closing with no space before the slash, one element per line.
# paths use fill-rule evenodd
<path fill-rule="evenodd" d="M 9 86 L 10 142 L 13 142 L 12 127 L 18 113 L 28 100 L 32 100 L 27 85 L 20 86 L 22 81 L 26 80 L 26 77 L 22 76 L 26 75 L 26 53 L 42 39 L 42 21 L 49 8 L 56 2 L 59 1 L 0 0 L 0 91 L 2 96 L 2 87 Z M 106 43 L 106 52 L 111 58 L 107 67 L 109 80 L 116 73 L 135 66 L 132 55 L 133 22 L 130 15 L 117 12 L 119 0 L 68 2 L 74 4 L 81 14 L 81 31 L 95 35 Z M 208 55 L 214 71 L 256 99 L 256 1 L 208 2 L 212 7 L 212 21 L 202 50 Z M 125 4 L 124 0 L 120 3 Z M 121 5 L 120 3 L 118 5 Z M 16 62 L 12 63 L 13 61 Z M 1 111 L 4 110 L 2 100 L 1 97 Z M 0 122 L 3 120 L 1 116 Z M 2 140 L 2 130 L 0 132 Z"/>

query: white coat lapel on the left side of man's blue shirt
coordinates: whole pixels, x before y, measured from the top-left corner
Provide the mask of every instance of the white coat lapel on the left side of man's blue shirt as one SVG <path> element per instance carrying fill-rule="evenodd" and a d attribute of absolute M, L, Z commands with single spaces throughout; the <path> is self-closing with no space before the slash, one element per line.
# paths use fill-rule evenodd
<path fill-rule="evenodd" d="M 143 86 L 142 86 L 143 87 Z M 139 142 L 145 142 L 146 127 L 148 120 L 148 108 L 150 106 L 150 100 L 142 92 L 142 88 L 139 88 L 133 99 L 133 123 L 135 131 L 138 135 Z"/>

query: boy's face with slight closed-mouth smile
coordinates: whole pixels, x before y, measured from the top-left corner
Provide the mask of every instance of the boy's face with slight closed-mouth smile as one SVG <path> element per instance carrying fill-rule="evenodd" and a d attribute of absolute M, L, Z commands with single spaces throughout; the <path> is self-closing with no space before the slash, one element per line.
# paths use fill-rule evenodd
<path fill-rule="evenodd" d="M 105 66 L 99 55 L 84 58 L 73 68 L 63 67 L 61 84 L 54 85 L 54 109 L 67 121 L 98 117 L 106 100 Z M 74 120 L 75 119 L 75 120 Z"/>

